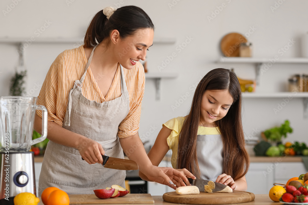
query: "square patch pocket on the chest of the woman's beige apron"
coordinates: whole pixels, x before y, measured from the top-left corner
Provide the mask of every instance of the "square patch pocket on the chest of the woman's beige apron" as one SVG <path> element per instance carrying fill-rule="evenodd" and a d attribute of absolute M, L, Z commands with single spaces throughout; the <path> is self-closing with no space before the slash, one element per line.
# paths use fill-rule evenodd
<path fill-rule="evenodd" d="M 86 114 L 74 109 L 71 119 L 71 131 L 89 138 L 92 120 L 92 114 Z"/>

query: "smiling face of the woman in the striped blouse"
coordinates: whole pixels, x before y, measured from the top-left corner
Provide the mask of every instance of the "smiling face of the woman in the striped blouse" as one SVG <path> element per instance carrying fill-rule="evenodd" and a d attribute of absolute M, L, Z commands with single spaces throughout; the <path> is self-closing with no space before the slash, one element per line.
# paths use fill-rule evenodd
<path fill-rule="evenodd" d="M 136 62 L 145 60 L 148 48 L 153 44 L 154 30 L 139 29 L 132 36 L 120 39 L 115 47 L 118 62 L 126 69 L 132 69 Z"/>

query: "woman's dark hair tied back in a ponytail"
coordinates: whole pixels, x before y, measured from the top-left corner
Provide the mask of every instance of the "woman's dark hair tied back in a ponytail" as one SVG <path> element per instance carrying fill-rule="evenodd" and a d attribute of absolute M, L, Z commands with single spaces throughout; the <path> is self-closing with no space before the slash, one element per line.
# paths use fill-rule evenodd
<path fill-rule="evenodd" d="M 107 19 L 103 10 L 93 17 L 84 37 L 84 48 L 95 46 L 110 35 L 112 30 L 118 30 L 121 38 L 135 34 L 138 29 L 152 28 L 154 24 L 147 13 L 137 6 L 123 6 Z M 107 45 L 110 43 L 106 42 Z"/>

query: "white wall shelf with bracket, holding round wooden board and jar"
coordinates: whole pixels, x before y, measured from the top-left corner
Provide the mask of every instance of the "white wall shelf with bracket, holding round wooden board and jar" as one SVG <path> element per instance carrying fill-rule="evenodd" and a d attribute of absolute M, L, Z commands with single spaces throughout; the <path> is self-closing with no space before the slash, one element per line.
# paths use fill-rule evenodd
<path fill-rule="evenodd" d="M 254 63 L 256 70 L 256 83 L 260 83 L 261 68 L 267 65 L 271 67 L 274 63 L 308 63 L 308 58 L 285 58 L 274 59 L 273 58 L 255 58 L 255 57 L 221 57 L 218 63 Z M 265 69 L 267 70 L 267 69 Z"/>

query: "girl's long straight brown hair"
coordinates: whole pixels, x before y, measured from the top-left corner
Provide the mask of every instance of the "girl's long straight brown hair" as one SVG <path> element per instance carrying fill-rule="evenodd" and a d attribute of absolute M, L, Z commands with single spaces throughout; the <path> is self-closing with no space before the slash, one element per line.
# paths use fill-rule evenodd
<path fill-rule="evenodd" d="M 201 101 L 205 90 L 228 90 L 233 98 L 233 104 L 226 116 L 217 120 L 216 123 L 223 142 L 223 173 L 230 175 L 233 180 L 240 179 L 248 171 L 249 155 L 245 148 L 242 127 L 241 87 L 235 73 L 229 69 L 213 69 L 199 82 L 190 112 L 181 131 L 177 167 L 186 168 L 197 178 L 201 176 L 197 159 L 197 131 Z"/>

